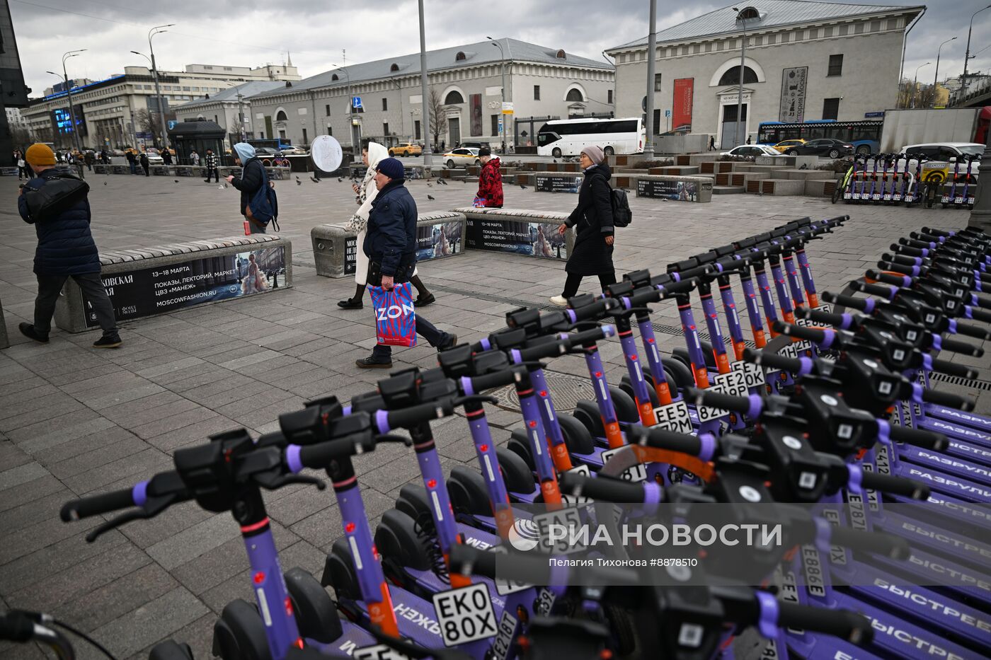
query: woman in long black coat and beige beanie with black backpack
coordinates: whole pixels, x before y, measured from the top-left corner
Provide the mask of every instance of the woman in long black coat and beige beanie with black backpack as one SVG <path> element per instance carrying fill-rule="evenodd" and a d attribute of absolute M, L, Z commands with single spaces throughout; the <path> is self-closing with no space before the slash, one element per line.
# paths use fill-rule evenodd
<path fill-rule="evenodd" d="M 558 227 L 562 234 L 568 227 L 574 227 L 576 233 L 575 247 L 564 269 L 568 274 L 564 291 L 551 297 L 551 302 L 561 307 L 568 304 L 568 298 L 578 293 L 585 275 L 599 275 L 603 288 L 616 281 L 612 267 L 612 192 L 608 183 L 612 172 L 604 163 L 605 158 L 600 147 L 582 150 L 579 165 L 585 170 L 585 180 L 578 191 L 578 206 Z"/>

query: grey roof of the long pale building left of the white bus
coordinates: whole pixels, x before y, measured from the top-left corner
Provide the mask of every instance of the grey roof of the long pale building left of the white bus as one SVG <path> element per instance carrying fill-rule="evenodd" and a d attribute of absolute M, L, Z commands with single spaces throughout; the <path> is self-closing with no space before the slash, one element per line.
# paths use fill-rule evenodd
<path fill-rule="evenodd" d="M 613 68 L 612 64 L 606 61 L 598 61 L 571 53 L 563 53 L 563 51 L 559 51 L 558 49 L 529 44 L 527 42 L 521 42 L 515 39 L 499 39 L 495 40 L 495 42 L 485 41 L 478 42 L 476 44 L 456 46 L 449 49 L 427 51 L 427 70 L 434 71 L 440 69 L 458 68 L 462 66 L 478 66 L 481 63 L 497 63 L 501 60 L 502 55 L 499 53 L 499 49 L 494 46 L 495 43 L 502 47 L 502 52 L 505 54 L 505 59 L 507 61 L 530 61 L 546 64 L 579 66 L 582 68 L 599 68 L 604 70 L 612 70 Z M 456 56 L 459 53 L 463 53 L 465 55 L 464 59 L 456 59 Z M 557 55 L 559 53 L 563 53 L 564 57 L 558 57 Z M 394 69 L 392 66 L 393 64 L 395 64 Z M 396 55 L 394 57 L 386 57 L 385 59 L 377 59 L 376 61 L 348 64 L 347 66 L 343 66 L 341 68 L 335 68 L 329 71 L 324 71 L 323 73 L 317 73 L 316 75 L 311 75 L 308 78 L 303 78 L 302 80 L 293 82 L 292 87 L 262 92 L 260 94 L 256 94 L 256 97 L 275 96 L 278 94 L 288 94 L 301 90 L 347 85 L 349 78 L 351 83 L 354 84 L 368 80 L 388 78 L 395 75 L 407 76 L 414 73 L 418 74 L 419 72 L 419 53 L 414 53 L 412 55 Z M 335 74 L 338 76 L 337 80 L 333 79 Z"/>

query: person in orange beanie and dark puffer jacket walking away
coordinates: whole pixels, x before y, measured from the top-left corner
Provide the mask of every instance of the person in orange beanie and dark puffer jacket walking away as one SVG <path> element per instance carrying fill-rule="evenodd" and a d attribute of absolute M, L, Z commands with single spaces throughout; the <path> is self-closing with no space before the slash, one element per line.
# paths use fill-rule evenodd
<path fill-rule="evenodd" d="M 85 294 L 103 336 L 93 348 L 117 348 L 122 342 L 117 330 L 114 307 L 100 279 L 100 255 L 89 231 L 91 222 L 89 186 L 71 173 L 55 167 L 55 154 L 47 145 L 28 148 L 27 161 L 38 173 L 24 184 L 17 208 L 28 224 L 35 225 L 38 248 L 35 251 L 35 322 L 21 323 L 25 337 L 49 343 L 55 302 L 65 280 L 75 280 Z"/>

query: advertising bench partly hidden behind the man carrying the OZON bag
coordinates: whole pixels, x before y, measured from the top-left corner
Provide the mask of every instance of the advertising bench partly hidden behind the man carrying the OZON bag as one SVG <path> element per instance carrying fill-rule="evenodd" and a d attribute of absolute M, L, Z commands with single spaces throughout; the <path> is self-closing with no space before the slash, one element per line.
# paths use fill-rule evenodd
<path fill-rule="evenodd" d="M 420 213 L 416 221 L 416 261 L 455 257 L 465 253 L 465 216 L 456 211 Z M 355 274 L 358 236 L 338 225 L 310 230 L 316 274 L 346 277 Z"/>

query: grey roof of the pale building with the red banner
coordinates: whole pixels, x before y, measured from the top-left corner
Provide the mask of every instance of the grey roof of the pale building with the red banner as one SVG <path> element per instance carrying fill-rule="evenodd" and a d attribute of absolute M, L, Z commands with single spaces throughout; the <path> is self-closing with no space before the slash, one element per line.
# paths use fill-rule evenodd
<path fill-rule="evenodd" d="M 868 5 L 846 4 L 841 2 L 815 2 L 813 0 L 754 0 L 752 5 L 736 5 L 737 7 L 753 7 L 760 13 L 760 18 L 746 20 L 747 30 L 763 30 L 787 25 L 801 25 L 828 21 L 837 18 L 851 18 L 860 15 L 902 13 L 907 11 L 923 11 L 924 6 L 913 5 Z M 727 5 L 722 9 L 697 16 L 694 19 L 679 23 L 667 30 L 657 33 L 657 43 L 686 42 L 716 35 L 736 34 L 740 31 L 736 23 L 733 6 Z M 646 46 L 647 37 L 614 46 L 609 51 Z"/>

